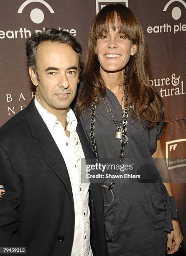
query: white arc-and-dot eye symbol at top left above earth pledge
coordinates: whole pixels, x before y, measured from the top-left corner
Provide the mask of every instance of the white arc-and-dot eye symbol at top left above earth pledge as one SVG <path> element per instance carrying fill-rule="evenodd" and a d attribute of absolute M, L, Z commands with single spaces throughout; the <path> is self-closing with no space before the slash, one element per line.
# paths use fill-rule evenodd
<path fill-rule="evenodd" d="M 33 3 L 33 2 L 38 2 L 38 3 L 42 3 L 43 5 L 46 6 L 46 8 L 48 8 L 48 10 L 50 11 L 50 13 L 54 13 L 54 10 L 51 8 L 51 6 L 46 3 L 46 1 L 44 0 L 27 0 L 25 1 L 19 8 L 18 10 L 18 13 L 22 13 L 23 12 L 23 9 L 26 7 L 26 5 L 30 4 L 30 3 Z M 34 23 L 41 23 L 43 22 L 44 20 L 44 13 L 41 9 L 38 9 L 38 8 L 35 8 L 31 11 L 31 14 L 30 14 L 30 17 L 31 17 L 31 20 L 34 22 Z"/>

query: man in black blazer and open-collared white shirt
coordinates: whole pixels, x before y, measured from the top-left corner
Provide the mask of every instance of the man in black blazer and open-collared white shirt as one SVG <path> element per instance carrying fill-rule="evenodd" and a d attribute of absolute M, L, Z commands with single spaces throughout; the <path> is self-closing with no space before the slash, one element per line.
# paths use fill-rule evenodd
<path fill-rule="evenodd" d="M 0 202 L 0 247 L 26 247 L 29 256 L 105 255 L 102 189 L 91 184 L 89 193 L 81 183 L 81 159 L 93 155 L 69 108 L 81 46 L 52 29 L 31 36 L 26 51 L 36 97 L 0 128 L 0 180 L 7 192 Z"/>

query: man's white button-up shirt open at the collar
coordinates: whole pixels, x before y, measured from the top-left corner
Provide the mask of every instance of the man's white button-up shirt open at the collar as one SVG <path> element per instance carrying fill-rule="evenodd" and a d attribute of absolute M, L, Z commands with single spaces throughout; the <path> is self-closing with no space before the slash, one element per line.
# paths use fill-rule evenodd
<path fill-rule="evenodd" d="M 89 183 L 81 183 L 81 159 L 85 157 L 76 132 L 76 116 L 71 109 L 67 113 L 67 130 L 70 133 L 68 137 L 66 136 L 63 125 L 57 120 L 56 116 L 43 108 L 36 100 L 36 97 L 35 105 L 54 138 L 69 172 L 75 212 L 74 241 L 71 256 L 92 256 L 90 247 L 90 212 L 88 205 Z M 63 255 L 63 252 L 61 252 L 61 255 Z"/>

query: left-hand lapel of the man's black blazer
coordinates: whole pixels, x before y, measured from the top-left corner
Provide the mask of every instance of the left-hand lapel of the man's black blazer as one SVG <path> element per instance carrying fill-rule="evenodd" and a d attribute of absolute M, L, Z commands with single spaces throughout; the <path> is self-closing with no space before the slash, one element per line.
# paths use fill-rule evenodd
<path fill-rule="evenodd" d="M 32 136 L 39 139 L 36 145 L 37 150 L 41 156 L 43 156 L 51 169 L 56 173 L 59 179 L 61 179 L 69 193 L 71 201 L 73 202 L 71 182 L 65 161 L 53 137 L 51 136 L 50 131 L 41 118 L 41 115 L 38 113 L 34 99 L 31 100 L 28 107 L 24 110 L 31 128 Z"/>

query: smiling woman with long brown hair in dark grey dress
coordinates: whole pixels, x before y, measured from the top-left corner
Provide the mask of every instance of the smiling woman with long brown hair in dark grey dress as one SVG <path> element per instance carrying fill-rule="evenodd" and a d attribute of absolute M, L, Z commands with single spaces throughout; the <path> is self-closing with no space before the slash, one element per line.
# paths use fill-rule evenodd
<path fill-rule="evenodd" d="M 94 18 L 84 77 L 76 110 L 95 157 L 120 164 L 130 158 L 143 178 L 102 183 L 109 254 L 174 253 L 183 239 L 176 206 L 153 164 L 163 158 L 162 102 L 149 82 L 143 29 L 124 5 L 107 5 Z"/>

